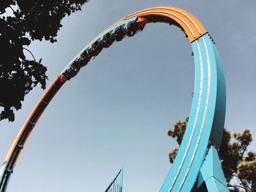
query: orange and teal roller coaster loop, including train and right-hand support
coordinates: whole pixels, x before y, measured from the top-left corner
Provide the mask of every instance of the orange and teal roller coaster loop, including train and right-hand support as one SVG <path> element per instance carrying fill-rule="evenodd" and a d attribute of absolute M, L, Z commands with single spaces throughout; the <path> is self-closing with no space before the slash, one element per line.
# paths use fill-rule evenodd
<path fill-rule="evenodd" d="M 147 23 L 156 22 L 181 28 L 191 42 L 195 58 L 195 88 L 189 122 L 176 160 L 160 191 L 187 192 L 195 188 L 200 191 L 228 191 L 217 154 L 222 140 L 226 106 L 222 61 L 213 39 L 193 15 L 183 9 L 165 6 L 143 9 L 118 20 L 86 45 L 56 77 L 20 129 L 1 166 L 1 191 L 6 191 L 26 140 L 61 86 L 75 77 L 80 68 L 86 66 L 103 48 L 121 41 L 125 36 L 134 36 Z"/>

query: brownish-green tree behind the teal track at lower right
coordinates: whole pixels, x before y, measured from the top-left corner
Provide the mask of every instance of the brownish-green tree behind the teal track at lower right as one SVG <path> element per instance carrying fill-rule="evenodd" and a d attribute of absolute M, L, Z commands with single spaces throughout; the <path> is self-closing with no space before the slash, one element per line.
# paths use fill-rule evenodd
<path fill-rule="evenodd" d="M 188 118 L 184 121 L 179 120 L 173 128 L 167 130 L 167 135 L 176 139 L 178 147 L 181 145 L 187 122 Z M 233 134 L 224 129 L 219 158 L 230 191 L 256 191 L 256 153 L 247 152 L 251 142 L 252 133 L 249 128 Z M 169 153 L 171 164 L 177 153 L 178 148 L 174 148 Z"/>

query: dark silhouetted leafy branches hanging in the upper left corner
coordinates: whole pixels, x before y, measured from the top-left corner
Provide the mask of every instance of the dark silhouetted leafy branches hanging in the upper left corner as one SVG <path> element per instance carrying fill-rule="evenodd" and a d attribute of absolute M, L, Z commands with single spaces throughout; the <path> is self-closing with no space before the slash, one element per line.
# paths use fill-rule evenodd
<path fill-rule="evenodd" d="M 36 39 L 57 42 L 61 20 L 88 1 L 1 0 L 0 120 L 15 120 L 14 109 L 20 110 L 24 96 L 38 84 L 45 89 L 47 69 L 26 47 Z M 26 58 L 25 52 L 34 59 Z"/>

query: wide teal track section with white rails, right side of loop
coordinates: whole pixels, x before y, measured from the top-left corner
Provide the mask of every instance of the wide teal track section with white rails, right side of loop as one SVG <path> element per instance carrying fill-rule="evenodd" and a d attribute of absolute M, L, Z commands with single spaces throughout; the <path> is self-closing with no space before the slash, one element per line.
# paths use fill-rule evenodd
<path fill-rule="evenodd" d="M 192 110 L 176 160 L 161 192 L 190 191 L 208 147 L 219 147 L 221 142 L 225 120 L 225 78 L 221 60 L 209 34 L 192 42 L 192 50 L 195 55 Z"/>

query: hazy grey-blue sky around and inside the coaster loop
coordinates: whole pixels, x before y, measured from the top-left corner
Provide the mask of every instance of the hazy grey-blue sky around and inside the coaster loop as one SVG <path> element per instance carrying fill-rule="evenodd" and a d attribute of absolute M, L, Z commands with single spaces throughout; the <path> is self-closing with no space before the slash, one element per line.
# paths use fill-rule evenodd
<path fill-rule="evenodd" d="M 91 0 L 61 23 L 58 42 L 29 49 L 48 67 L 48 85 L 100 31 L 132 12 L 157 5 L 187 9 L 217 42 L 227 79 L 231 131 L 256 135 L 256 1 Z M 9 191 L 104 191 L 124 166 L 124 191 L 155 192 L 170 169 L 176 142 L 167 128 L 189 115 L 194 84 L 192 48 L 165 24 L 100 53 L 59 91 L 34 128 L 15 167 Z M 42 96 L 26 96 L 14 123 L 0 123 L 0 161 Z M 252 143 L 252 148 L 256 142 Z"/>

